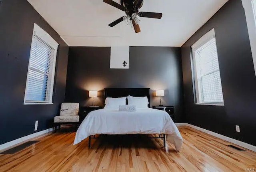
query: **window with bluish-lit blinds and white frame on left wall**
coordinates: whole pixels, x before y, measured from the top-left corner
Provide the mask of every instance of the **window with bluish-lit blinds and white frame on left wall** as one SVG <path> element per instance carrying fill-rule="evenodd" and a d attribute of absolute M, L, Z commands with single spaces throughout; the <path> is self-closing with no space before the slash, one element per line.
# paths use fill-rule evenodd
<path fill-rule="evenodd" d="M 52 104 L 58 43 L 34 24 L 24 104 Z"/>

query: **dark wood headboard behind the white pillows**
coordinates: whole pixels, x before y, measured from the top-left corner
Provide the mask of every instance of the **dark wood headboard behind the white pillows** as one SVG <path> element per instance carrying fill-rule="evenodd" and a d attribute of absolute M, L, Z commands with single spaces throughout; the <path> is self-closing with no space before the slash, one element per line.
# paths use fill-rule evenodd
<path fill-rule="evenodd" d="M 105 88 L 105 99 L 106 97 L 125 97 L 125 96 L 134 96 L 134 97 L 148 97 L 148 107 L 150 107 L 150 88 Z"/>

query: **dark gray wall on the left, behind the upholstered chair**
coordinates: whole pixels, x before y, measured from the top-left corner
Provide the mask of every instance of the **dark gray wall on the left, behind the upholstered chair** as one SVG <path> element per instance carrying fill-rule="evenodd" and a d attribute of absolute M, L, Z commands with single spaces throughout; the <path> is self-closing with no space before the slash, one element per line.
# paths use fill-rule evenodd
<path fill-rule="evenodd" d="M 60 44 L 53 105 L 23 105 L 34 23 Z M 1 0 L 0 144 L 52 127 L 65 97 L 67 63 L 68 45 L 26 0 Z"/>

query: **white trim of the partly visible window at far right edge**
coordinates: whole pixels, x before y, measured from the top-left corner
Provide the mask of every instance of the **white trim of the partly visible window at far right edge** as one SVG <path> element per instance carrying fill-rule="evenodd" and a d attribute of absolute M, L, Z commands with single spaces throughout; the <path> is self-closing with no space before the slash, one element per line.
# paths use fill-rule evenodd
<path fill-rule="evenodd" d="M 246 23 L 250 38 L 250 45 L 252 49 L 252 59 L 254 64 L 254 71 L 256 75 L 256 23 L 254 17 L 254 10 L 252 7 L 252 0 L 242 0 L 244 12 L 246 16 Z"/>

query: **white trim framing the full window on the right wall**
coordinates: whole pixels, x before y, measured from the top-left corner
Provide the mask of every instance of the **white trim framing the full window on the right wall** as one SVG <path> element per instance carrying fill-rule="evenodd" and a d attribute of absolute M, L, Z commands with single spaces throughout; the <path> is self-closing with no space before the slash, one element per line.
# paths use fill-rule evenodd
<path fill-rule="evenodd" d="M 193 59 L 193 67 L 194 70 L 192 70 L 192 75 L 194 75 L 194 81 L 195 81 L 195 89 L 196 89 L 196 103 L 195 105 L 210 105 L 210 106 L 224 106 L 224 103 L 200 103 L 200 95 L 199 95 L 199 87 L 198 87 L 198 81 L 197 81 L 197 71 L 196 71 L 196 54 L 195 50 L 198 49 L 203 44 L 210 41 L 212 38 L 215 38 L 215 30 L 214 28 L 204 34 L 196 43 L 194 43 L 192 48 L 192 59 Z"/>

